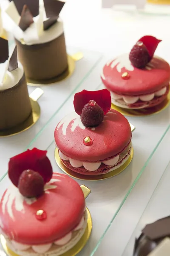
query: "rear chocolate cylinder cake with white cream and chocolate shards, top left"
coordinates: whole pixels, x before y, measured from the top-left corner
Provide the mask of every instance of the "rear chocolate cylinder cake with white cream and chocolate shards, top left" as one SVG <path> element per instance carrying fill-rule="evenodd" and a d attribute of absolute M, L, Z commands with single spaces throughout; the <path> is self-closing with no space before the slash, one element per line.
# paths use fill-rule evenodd
<path fill-rule="evenodd" d="M 63 22 L 58 0 L 14 0 L 6 10 L 14 21 L 18 56 L 29 80 L 48 80 L 68 68 Z"/>

